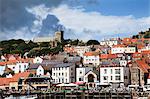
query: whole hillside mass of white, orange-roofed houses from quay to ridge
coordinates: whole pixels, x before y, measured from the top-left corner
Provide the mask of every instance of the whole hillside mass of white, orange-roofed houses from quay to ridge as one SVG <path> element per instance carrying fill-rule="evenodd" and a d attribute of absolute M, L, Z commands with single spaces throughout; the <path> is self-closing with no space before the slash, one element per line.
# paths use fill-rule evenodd
<path fill-rule="evenodd" d="M 55 56 L 21 58 L 19 55 L 3 55 L 0 88 L 27 90 L 29 86 L 41 89 L 78 82 L 89 88 L 150 84 L 149 44 L 134 40 L 127 44 L 128 41 L 131 40 L 125 38 L 93 46 L 67 45 L 64 52 Z"/>

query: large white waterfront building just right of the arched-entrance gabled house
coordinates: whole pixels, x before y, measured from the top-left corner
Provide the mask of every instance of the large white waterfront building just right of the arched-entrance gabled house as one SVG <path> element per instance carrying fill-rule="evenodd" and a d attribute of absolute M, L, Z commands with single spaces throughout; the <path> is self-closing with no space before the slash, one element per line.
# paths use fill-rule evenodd
<path fill-rule="evenodd" d="M 100 83 L 121 84 L 127 86 L 129 84 L 129 68 L 117 66 L 100 67 Z"/>

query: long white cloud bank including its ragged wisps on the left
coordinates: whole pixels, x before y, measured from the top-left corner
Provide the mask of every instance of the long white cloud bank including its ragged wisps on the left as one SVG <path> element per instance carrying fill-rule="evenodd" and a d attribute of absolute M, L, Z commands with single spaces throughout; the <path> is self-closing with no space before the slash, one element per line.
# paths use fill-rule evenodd
<path fill-rule="evenodd" d="M 66 27 L 67 38 L 99 40 L 102 37 L 132 35 L 150 28 L 150 17 L 137 19 L 132 15 L 105 16 L 100 12 L 86 12 L 82 7 L 71 8 L 68 5 L 55 8 L 39 5 L 26 9 L 36 17 L 32 26 L 33 32 L 40 32 L 42 21 L 48 14 L 52 14 Z"/>

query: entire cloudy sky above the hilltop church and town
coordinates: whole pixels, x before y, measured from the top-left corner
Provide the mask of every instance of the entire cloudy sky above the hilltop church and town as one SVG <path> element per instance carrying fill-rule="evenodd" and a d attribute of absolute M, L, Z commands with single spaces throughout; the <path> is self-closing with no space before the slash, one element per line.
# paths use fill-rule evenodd
<path fill-rule="evenodd" d="M 150 28 L 149 0 L 0 0 L 0 40 L 130 37 Z"/>

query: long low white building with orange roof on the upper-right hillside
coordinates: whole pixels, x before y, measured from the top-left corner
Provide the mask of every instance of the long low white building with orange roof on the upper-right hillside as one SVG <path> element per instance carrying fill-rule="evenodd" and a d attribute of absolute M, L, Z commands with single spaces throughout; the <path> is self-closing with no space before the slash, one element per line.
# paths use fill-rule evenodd
<path fill-rule="evenodd" d="M 135 53 L 135 47 L 124 47 L 124 46 L 113 46 L 111 48 L 111 54 L 121 54 L 121 53 Z"/>

